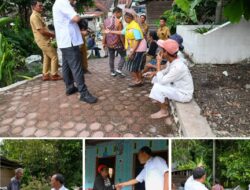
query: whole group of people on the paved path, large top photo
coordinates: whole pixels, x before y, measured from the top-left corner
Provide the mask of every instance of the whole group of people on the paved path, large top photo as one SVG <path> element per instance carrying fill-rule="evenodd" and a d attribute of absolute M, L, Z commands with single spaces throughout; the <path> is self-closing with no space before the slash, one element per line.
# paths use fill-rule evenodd
<path fill-rule="evenodd" d="M 95 44 L 90 43 L 93 42 L 92 38 L 86 43 L 84 36 L 88 35 L 88 32 L 78 26 L 81 18 L 74 9 L 75 2 L 55 1 L 55 33 L 49 31 L 45 25 L 41 16 L 43 5 L 40 0 L 32 2 L 33 13 L 30 23 L 35 41 L 43 51 L 43 80 L 62 79 L 58 74 L 56 50 L 50 45 L 50 40 L 56 38 L 57 46 L 62 52 L 62 74 L 66 95 L 79 92 L 81 101 L 96 103 L 97 98 L 88 91 L 84 80 L 84 73 L 89 72 L 86 66 L 86 44 L 92 44 L 92 48 Z M 123 12 L 127 23 L 125 27 L 121 21 Z M 122 10 L 116 7 L 113 15 L 104 21 L 103 34 L 103 47 L 109 51 L 111 76 L 124 77 L 126 75 L 123 70 L 126 69 L 132 74 L 132 82 L 129 84 L 132 88 L 141 87 L 144 77 L 152 79 L 153 87 L 149 97 L 159 102 L 161 109 L 152 114 L 151 118 L 158 119 L 169 115 L 166 98 L 179 102 L 189 102 L 192 99 L 192 76 L 185 61 L 178 56 L 179 50 L 183 49 L 183 39 L 178 34 L 170 34 L 165 18 L 160 18 L 160 27 L 157 31 L 150 31 L 145 15 L 138 17 L 133 9 Z M 120 55 L 117 69 L 114 64 L 116 52 Z"/>

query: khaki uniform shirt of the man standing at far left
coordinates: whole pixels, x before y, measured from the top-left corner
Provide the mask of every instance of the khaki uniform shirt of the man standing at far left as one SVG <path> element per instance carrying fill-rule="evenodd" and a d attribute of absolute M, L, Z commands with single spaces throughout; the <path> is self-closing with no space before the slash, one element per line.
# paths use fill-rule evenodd
<path fill-rule="evenodd" d="M 38 13 L 37 11 L 33 10 L 30 16 L 30 25 L 34 34 L 35 41 L 38 44 L 38 46 L 42 44 L 48 44 L 50 42 L 50 38 L 48 36 L 44 36 L 38 31 L 39 29 L 47 28 L 47 26 L 41 14 Z"/>

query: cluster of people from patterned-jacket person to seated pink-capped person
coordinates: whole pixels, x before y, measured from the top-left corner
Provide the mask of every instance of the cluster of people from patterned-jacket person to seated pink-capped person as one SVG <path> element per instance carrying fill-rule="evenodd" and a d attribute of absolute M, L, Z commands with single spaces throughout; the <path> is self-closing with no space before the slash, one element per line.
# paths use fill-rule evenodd
<path fill-rule="evenodd" d="M 151 118 L 167 117 L 166 98 L 189 102 L 193 96 L 191 73 L 185 60 L 179 57 L 179 51 L 184 48 L 183 39 L 178 34 L 170 34 L 164 17 L 160 18 L 159 29 L 150 31 L 146 16 L 138 18 L 133 9 L 124 10 L 127 25 L 123 27 L 120 20 L 122 12 L 122 9 L 115 8 L 113 15 L 104 22 L 103 46 L 109 49 L 111 76 L 124 76 L 124 67 L 132 74 L 133 80 L 129 87 L 141 87 L 144 77 L 152 79 L 153 87 L 149 97 L 159 102 L 161 109 L 152 114 Z M 115 51 L 120 54 L 117 70 L 114 69 Z"/>

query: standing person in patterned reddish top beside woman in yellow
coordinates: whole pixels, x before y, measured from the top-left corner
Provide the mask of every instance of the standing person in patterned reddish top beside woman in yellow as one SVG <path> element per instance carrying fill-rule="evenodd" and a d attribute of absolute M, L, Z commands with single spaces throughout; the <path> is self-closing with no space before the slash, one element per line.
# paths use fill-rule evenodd
<path fill-rule="evenodd" d="M 123 29 L 123 25 L 120 21 L 122 17 L 122 9 L 119 7 L 114 8 L 113 15 L 107 18 L 104 22 L 104 28 L 109 30 L 120 31 Z M 104 34 L 103 47 L 108 47 L 109 50 L 109 66 L 110 74 L 115 77 L 117 74 L 125 76 L 122 73 L 122 68 L 125 63 L 126 50 L 124 48 L 124 37 L 117 34 Z M 118 69 L 115 71 L 115 52 L 118 52 L 121 56 Z"/>

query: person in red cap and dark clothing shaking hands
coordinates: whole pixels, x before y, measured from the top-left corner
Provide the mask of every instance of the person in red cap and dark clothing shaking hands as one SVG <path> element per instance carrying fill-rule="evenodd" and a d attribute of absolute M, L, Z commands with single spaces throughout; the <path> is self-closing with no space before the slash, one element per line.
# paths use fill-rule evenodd
<path fill-rule="evenodd" d="M 99 165 L 97 171 L 98 175 L 95 178 L 93 190 L 119 189 L 116 188 L 114 184 L 112 184 L 111 179 L 109 178 L 109 170 L 106 165 Z"/>

